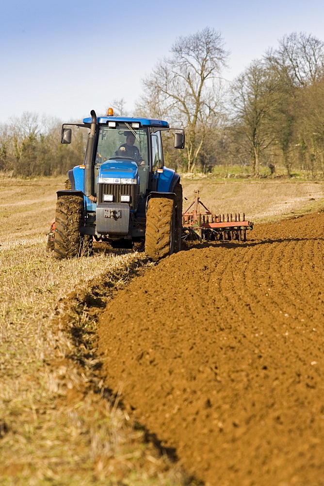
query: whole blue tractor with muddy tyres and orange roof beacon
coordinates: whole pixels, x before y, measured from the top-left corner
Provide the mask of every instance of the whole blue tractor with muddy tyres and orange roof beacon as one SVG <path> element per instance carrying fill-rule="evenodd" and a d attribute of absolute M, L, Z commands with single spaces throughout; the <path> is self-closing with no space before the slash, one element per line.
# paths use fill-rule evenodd
<path fill-rule="evenodd" d="M 163 163 L 163 130 L 176 130 L 174 147 L 184 148 L 183 129 L 166 121 L 113 116 L 62 127 L 62 143 L 72 128 L 89 130 L 84 163 L 68 172 L 70 188 L 57 192 L 54 223 L 56 258 L 91 251 L 92 242 L 131 248 L 145 241 L 154 261 L 180 248 L 182 188 L 180 176 Z"/>

